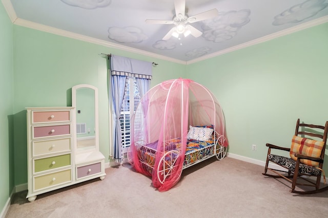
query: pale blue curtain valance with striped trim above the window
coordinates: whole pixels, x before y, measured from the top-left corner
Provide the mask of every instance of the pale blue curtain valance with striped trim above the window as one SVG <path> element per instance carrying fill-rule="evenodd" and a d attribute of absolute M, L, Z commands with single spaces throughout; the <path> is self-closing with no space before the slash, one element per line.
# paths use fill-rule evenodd
<path fill-rule="evenodd" d="M 111 74 L 152 79 L 152 62 L 112 55 Z"/>

